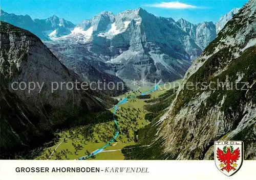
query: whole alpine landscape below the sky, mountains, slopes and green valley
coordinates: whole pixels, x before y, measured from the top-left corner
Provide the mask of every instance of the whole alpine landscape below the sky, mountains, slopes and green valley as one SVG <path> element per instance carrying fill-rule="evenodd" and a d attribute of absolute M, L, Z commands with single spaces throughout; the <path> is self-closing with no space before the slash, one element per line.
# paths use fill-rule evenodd
<path fill-rule="evenodd" d="M 74 24 L 1 10 L 0 159 L 211 160 L 214 141 L 239 140 L 256 160 L 255 11 L 250 0 L 193 24 L 138 8 Z M 117 86 L 51 89 L 84 81 Z"/>

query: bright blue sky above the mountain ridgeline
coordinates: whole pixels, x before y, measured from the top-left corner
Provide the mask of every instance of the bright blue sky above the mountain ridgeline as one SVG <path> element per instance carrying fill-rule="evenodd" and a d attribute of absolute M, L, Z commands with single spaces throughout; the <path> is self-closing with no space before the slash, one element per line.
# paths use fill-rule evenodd
<path fill-rule="evenodd" d="M 218 21 L 233 8 L 242 7 L 248 0 L 2 0 L 1 8 L 17 15 L 45 19 L 52 15 L 73 23 L 91 19 L 102 11 L 117 14 L 139 7 L 156 16 L 184 18 L 193 23 Z"/>

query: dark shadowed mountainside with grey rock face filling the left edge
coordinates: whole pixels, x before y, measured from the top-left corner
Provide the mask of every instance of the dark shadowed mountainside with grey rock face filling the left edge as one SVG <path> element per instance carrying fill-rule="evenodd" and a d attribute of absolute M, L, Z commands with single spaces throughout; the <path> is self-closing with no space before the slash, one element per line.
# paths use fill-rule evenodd
<path fill-rule="evenodd" d="M 0 47 L 1 153 L 31 145 L 34 137 L 46 135 L 55 125 L 74 121 L 81 111 L 103 110 L 90 92 L 60 86 L 61 82 L 75 85 L 80 78 L 32 33 L 0 21 Z M 17 84 L 11 87 L 12 82 L 43 86 L 40 92 L 38 86 L 29 92 L 28 88 L 18 89 Z M 59 88 L 52 92 L 56 84 Z"/>

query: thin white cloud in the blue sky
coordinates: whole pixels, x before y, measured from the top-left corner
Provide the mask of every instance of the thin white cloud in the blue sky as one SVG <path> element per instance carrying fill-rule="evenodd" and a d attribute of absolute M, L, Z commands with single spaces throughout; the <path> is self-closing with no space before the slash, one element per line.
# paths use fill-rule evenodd
<path fill-rule="evenodd" d="M 184 4 L 184 3 L 179 3 L 179 2 L 162 2 L 162 3 L 158 3 L 158 4 L 151 4 L 151 5 L 147 5 L 150 7 L 156 7 L 156 8 L 167 8 L 167 9 L 196 9 L 199 8 L 197 6 L 193 6 L 193 5 L 188 5 L 188 4 Z"/>

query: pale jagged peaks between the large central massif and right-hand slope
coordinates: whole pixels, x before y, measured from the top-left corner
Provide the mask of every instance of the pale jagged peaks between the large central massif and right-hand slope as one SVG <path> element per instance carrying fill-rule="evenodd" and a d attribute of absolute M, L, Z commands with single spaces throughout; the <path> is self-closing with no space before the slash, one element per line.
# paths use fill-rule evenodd
<path fill-rule="evenodd" d="M 183 31 L 189 34 L 202 49 L 216 38 L 216 27 L 213 22 L 193 24 L 181 18 L 177 21 L 177 24 Z"/>

